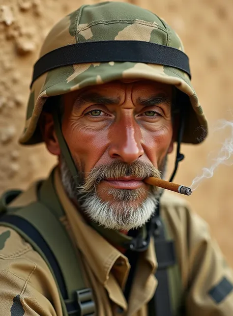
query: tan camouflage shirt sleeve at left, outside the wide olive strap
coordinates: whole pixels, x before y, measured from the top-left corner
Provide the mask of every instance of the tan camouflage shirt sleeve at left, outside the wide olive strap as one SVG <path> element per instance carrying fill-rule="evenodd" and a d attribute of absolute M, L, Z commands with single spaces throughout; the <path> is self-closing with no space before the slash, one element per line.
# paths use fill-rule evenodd
<path fill-rule="evenodd" d="M 0 227 L 0 316 L 36 315 L 62 316 L 56 284 L 39 254 Z"/>

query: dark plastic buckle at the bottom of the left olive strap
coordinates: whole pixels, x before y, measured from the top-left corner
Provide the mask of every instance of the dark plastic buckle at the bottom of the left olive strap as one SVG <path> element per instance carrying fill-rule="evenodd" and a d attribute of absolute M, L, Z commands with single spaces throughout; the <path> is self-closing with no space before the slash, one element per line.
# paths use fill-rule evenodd
<path fill-rule="evenodd" d="M 76 291 L 77 302 L 80 308 L 80 316 L 95 316 L 95 302 L 91 288 Z"/>

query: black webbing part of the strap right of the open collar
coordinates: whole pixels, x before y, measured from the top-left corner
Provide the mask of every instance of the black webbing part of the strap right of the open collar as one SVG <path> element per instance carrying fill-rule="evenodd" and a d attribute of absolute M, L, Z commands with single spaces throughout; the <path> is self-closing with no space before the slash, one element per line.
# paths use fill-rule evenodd
<path fill-rule="evenodd" d="M 158 268 L 155 277 L 158 281 L 153 298 L 148 303 L 149 316 L 172 316 L 172 302 L 169 290 L 168 268 L 175 265 L 175 246 L 173 240 L 166 240 L 162 219 L 157 216 L 152 219 L 154 230 L 155 253 Z"/>

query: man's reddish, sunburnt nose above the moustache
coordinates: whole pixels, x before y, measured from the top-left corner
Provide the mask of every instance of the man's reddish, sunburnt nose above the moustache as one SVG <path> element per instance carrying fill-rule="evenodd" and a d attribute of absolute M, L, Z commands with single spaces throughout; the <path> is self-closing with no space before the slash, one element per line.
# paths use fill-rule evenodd
<path fill-rule="evenodd" d="M 142 134 L 134 118 L 124 117 L 111 129 L 109 155 L 125 163 L 133 163 L 144 154 Z"/>

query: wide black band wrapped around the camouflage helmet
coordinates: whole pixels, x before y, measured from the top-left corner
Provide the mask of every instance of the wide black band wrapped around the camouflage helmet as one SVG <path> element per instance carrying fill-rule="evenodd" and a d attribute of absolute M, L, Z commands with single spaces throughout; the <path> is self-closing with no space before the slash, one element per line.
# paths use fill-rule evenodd
<path fill-rule="evenodd" d="M 191 78 L 188 56 L 170 46 L 144 41 L 96 41 L 59 47 L 42 56 L 34 65 L 32 82 L 61 66 L 87 62 L 131 61 L 178 68 Z"/>

